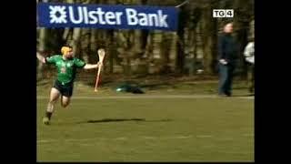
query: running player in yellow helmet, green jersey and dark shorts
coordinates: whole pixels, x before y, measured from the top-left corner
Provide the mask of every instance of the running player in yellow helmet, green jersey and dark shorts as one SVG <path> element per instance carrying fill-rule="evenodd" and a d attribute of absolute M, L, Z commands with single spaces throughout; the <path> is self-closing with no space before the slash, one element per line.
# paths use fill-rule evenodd
<path fill-rule="evenodd" d="M 95 65 L 86 64 L 84 61 L 75 58 L 71 46 L 63 46 L 61 52 L 62 55 L 54 55 L 50 57 L 44 57 L 39 53 L 36 53 L 36 57 L 40 62 L 55 65 L 57 69 L 55 84 L 51 89 L 45 117 L 43 118 L 43 123 L 45 125 L 49 125 L 50 123 L 50 119 L 54 112 L 55 102 L 58 97 L 61 97 L 61 105 L 63 108 L 69 105 L 70 98 L 73 95 L 76 69 L 92 69 L 101 65 L 99 62 Z"/>

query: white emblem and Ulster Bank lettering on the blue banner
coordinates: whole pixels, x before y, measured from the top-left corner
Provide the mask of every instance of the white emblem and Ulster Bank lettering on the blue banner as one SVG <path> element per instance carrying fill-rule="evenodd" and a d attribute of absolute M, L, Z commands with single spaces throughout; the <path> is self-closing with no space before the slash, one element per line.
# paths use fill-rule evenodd
<path fill-rule="evenodd" d="M 50 5 L 49 9 L 51 24 L 66 24 L 70 21 L 73 24 L 122 25 L 123 12 L 105 12 L 101 7 L 90 11 L 86 6 Z M 138 12 L 134 8 L 125 8 L 125 16 L 128 26 L 168 27 L 166 22 L 168 15 L 164 15 L 163 10 L 147 14 Z"/>

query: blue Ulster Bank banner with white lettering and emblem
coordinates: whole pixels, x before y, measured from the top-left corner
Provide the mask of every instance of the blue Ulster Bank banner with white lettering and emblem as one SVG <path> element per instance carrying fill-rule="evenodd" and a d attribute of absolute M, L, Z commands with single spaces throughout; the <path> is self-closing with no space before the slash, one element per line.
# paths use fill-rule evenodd
<path fill-rule="evenodd" d="M 135 5 L 37 5 L 37 23 L 43 27 L 176 30 L 174 7 Z"/>

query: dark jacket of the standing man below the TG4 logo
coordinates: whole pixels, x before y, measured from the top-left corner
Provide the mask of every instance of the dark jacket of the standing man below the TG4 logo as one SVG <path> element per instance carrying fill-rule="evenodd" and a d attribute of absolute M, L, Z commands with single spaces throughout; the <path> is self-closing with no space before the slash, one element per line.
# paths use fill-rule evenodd
<path fill-rule="evenodd" d="M 225 59 L 230 64 L 235 64 L 238 58 L 238 45 L 233 36 L 230 34 L 222 34 L 218 36 L 218 57 L 217 59 Z"/>

